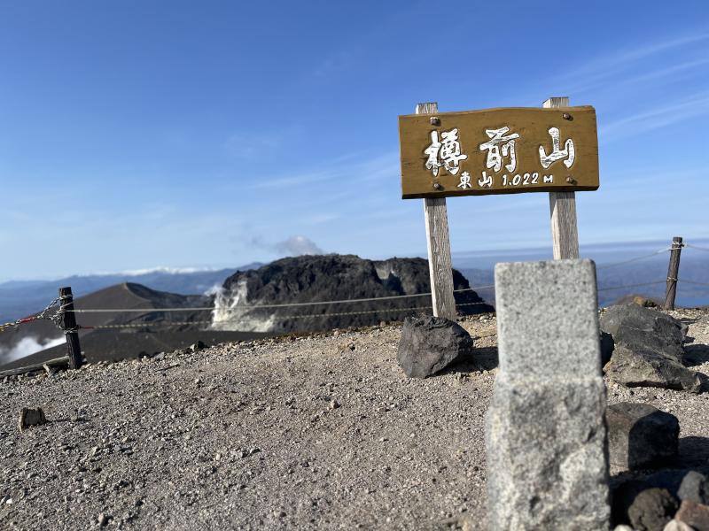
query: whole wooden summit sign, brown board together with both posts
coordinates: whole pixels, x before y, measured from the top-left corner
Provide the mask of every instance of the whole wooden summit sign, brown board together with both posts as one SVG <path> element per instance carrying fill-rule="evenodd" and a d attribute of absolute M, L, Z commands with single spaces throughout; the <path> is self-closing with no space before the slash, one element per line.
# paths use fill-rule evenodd
<path fill-rule="evenodd" d="M 454 319 L 448 196 L 549 192 L 554 258 L 578 258 L 577 190 L 596 190 L 596 110 L 568 97 L 541 108 L 438 112 L 418 104 L 399 117 L 401 196 L 425 199 L 433 315 Z"/>

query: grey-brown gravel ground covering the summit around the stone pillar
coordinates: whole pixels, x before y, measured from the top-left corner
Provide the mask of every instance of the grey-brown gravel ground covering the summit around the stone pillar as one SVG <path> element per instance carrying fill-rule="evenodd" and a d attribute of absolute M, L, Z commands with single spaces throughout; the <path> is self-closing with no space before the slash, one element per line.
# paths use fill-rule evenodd
<path fill-rule="evenodd" d="M 709 344 L 709 312 L 674 315 Z M 424 381 L 396 365 L 397 325 L 8 379 L 0 527 L 484 528 L 495 319 L 461 324 L 474 364 Z M 709 349 L 690 353 L 709 374 Z M 672 412 L 683 458 L 706 464 L 709 394 L 609 383 L 608 397 Z M 19 433 L 22 407 L 49 422 Z"/>

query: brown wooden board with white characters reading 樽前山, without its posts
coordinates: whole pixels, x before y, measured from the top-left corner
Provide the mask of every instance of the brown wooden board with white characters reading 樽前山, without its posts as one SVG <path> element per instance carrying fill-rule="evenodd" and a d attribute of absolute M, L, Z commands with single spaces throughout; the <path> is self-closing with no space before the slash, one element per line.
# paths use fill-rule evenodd
<path fill-rule="evenodd" d="M 404 199 L 599 186 L 591 106 L 408 114 L 399 136 Z"/>

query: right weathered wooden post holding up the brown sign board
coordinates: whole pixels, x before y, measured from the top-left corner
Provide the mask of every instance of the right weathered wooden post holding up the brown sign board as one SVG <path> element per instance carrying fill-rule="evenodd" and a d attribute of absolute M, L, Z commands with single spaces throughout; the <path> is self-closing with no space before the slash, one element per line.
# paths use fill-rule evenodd
<path fill-rule="evenodd" d="M 568 107 L 569 98 L 550 97 L 542 107 Z M 579 229 L 576 223 L 575 192 L 549 192 L 551 240 L 554 259 L 579 258 Z"/>

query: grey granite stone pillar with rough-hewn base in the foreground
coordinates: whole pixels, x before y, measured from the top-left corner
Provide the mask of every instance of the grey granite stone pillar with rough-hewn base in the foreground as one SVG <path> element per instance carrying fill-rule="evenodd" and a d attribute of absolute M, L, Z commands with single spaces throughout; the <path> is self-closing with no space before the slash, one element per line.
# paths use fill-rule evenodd
<path fill-rule="evenodd" d="M 495 267 L 500 369 L 487 411 L 490 528 L 610 526 L 596 266 Z"/>

